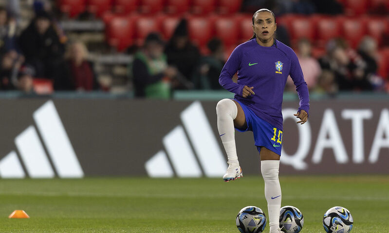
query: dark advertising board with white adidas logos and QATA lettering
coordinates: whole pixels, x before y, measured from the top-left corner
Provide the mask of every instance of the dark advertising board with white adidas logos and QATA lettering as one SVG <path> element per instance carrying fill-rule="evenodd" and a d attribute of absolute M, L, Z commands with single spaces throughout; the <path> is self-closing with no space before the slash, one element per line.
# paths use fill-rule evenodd
<path fill-rule="evenodd" d="M 1 100 L 1 177 L 221 177 L 226 168 L 216 101 L 53 102 Z M 387 100 L 312 101 L 305 125 L 297 104 L 283 104 L 280 174 L 389 173 Z M 244 173 L 259 174 L 252 133 L 237 132 L 236 143 Z"/>

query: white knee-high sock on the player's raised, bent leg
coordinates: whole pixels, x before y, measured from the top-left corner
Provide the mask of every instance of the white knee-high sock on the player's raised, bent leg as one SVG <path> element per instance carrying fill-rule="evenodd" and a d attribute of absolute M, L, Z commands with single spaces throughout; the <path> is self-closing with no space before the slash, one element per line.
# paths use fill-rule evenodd
<path fill-rule="evenodd" d="M 216 105 L 218 115 L 218 131 L 224 150 L 227 153 L 229 163 L 239 163 L 235 146 L 234 119 L 238 114 L 238 108 L 234 101 L 223 99 Z"/>

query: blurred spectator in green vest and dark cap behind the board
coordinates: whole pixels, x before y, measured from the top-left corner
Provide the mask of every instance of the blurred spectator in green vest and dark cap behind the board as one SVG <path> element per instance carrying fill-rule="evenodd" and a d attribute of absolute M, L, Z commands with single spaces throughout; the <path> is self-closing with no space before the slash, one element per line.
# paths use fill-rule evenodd
<path fill-rule="evenodd" d="M 148 34 L 143 48 L 135 54 L 130 70 L 135 97 L 170 98 L 171 81 L 177 75 L 177 69 L 167 65 L 164 42 L 159 34 Z"/>

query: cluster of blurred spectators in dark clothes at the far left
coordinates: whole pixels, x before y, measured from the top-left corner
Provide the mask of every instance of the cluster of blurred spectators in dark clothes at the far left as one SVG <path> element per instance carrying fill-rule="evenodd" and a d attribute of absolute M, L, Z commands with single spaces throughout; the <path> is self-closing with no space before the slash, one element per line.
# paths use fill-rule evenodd
<path fill-rule="evenodd" d="M 44 1 L 35 1 L 33 6 L 35 17 L 19 35 L 18 8 L 0 7 L 0 90 L 34 95 L 50 94 L 53 89 L 98 89 L 93 65 L 86 60 L 86 46 L 66 41 Z"/>

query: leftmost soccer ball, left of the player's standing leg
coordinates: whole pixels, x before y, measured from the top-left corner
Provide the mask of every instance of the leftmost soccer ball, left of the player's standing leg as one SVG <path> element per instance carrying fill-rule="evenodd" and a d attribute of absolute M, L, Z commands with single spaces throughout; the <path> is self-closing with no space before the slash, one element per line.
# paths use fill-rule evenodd
<path fill-rule="evenodd" d="M 256 206 L 246 206 L 239 211 L 236 224 L 241 233 L 261 233 L 266 226 L 266 216 Z"/>

